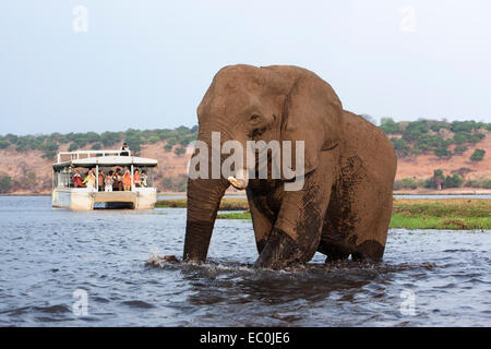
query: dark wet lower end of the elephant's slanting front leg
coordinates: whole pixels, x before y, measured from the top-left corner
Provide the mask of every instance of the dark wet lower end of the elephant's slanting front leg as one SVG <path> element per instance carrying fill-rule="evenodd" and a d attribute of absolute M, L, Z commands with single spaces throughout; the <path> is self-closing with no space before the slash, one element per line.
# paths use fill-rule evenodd
<path fill-rule="evenodd" d="M 287 233 L 274 229 L 254 267 L 280 269 L 302 263 L 302 255 L 300 246 Z"/>

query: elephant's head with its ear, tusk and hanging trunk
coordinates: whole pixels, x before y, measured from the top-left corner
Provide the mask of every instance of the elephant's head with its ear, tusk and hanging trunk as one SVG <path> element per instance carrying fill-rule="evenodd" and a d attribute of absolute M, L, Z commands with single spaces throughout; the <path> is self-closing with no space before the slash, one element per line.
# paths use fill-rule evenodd
<path fill-rule="evenodd" d="M 212 148 L 212 133 L 220 142 L 304 142 L 303 176 L 316 168 L 320 152 L 335 147 L 343 134 L 343 107 L 333 88 L 298 67 L 231 65 L 213 79 L 197 108 L 197 140 Z M 221 158 L 220 160 L 224 160 Z M 209 160 L 211 161 L 211 160 Z M 209 163 L 211 165 L 211 163 Z M 250 165 L 225 178 L 189 179 L 184 261 L 206 258 L 213 226 L 226 189 L 248 185 Z"/>

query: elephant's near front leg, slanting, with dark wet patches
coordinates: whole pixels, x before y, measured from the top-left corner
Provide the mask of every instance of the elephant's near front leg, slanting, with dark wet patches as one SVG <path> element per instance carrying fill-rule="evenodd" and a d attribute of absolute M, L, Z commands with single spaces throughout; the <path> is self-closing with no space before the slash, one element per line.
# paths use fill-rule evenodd
<path fill-rule="evenodd" d="M 323 155 L 323 164 L 333 164 L 331 154 Z M 331 167 L 320 166 L 306 174 L 302 190 L 283 193 L 278 216 L 256 266 L 280 268 L 312 258 L 321 240 L 333 178 Z"/>

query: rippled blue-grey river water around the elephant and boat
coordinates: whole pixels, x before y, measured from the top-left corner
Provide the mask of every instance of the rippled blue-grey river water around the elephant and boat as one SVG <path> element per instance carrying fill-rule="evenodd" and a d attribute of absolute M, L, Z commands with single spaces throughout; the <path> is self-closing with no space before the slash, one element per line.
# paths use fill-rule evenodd
<path fill-rule="evenodd" d="M 391 230 L 383 263 L 273 272 L 250 267 L 250 221 L 217 220 L 208 264 L 156 267 L 185 209 L 50 204 L 0 197 L 0 326 L 491 325 L 491 231 Z"/>

